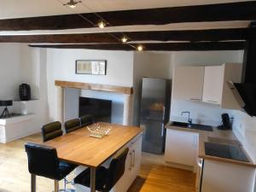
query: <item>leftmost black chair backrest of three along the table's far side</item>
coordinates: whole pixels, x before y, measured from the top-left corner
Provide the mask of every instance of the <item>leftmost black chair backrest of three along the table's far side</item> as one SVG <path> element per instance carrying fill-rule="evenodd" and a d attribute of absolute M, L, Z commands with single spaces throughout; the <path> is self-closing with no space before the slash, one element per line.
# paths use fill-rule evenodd
<path fill-rule="evenodd" d="M 61 122 L 59 121 L 43 125 L 41 130 L 44 142 L 47 142 L 55 137 L 60 137 L 63 134 L 63 131 L 61 130 Z"/>

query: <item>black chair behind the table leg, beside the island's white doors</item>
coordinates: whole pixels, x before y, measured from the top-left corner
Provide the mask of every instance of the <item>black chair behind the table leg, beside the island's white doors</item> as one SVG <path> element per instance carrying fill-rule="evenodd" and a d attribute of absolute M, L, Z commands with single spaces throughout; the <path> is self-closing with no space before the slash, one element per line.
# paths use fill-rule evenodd
<path fill-rule="evenodd" d="M 125 148 L 110 162 L 108 168 L 100 166 L 96 168 L 96 190 L 101 192 L 108 192 L 113 188 L 119 178 L 125 172 L 125 160 L 129 149 Z M 81 184 L 90 188 L 90 169 L 84 170 L 77 177 L 74 178 L 75 184 Z"/>

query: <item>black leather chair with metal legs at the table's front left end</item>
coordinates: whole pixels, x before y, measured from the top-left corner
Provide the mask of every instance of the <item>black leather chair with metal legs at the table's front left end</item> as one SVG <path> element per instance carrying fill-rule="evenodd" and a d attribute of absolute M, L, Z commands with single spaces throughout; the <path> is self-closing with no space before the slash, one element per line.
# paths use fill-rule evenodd
<path fill-rule="evenodd" d="M 36 192 L 36 176 L 55 180 L 55 192 L 59 191 L 59 181 L 66 177 L 76 167 L 73 164 L 60 161 L 55 148 L 35 143 L 26 143 L 28 171 L 31 173 L 32 192 Z M 66 191 L 66 189 L 62 190 Z"/>

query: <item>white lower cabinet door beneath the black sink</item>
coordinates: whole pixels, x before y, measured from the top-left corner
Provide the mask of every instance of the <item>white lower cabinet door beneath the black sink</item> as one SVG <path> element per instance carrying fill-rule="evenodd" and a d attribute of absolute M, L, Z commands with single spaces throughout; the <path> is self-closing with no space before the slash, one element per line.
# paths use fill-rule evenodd
<path fill-rule="evenodd" d="M 165 160 L 186 166 L 195 166 L 198 133 L 189 131 L 166 131 Z"/>

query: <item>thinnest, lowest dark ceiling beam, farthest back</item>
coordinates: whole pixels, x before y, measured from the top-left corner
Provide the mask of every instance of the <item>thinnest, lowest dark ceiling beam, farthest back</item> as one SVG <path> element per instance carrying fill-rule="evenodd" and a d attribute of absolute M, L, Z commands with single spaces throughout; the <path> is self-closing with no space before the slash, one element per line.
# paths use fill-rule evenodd
<path fill-rule="evenodd" d="M 104 50 L 136 50 L 137 44 L 44 44 L 29 45 L 36 48 L 53 49 L 104 49 Z M 166 43 L 143 44 L 144 50 L 238 50 L 244 49 L 245 42 L 204 42 L 204 43 Z"/>

